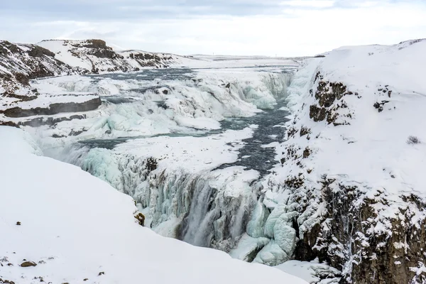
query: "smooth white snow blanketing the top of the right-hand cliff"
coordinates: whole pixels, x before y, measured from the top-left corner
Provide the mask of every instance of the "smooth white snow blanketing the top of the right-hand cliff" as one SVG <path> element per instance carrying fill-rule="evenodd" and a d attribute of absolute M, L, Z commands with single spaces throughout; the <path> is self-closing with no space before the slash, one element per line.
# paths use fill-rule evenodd
<path fill-rule="evenodd" d="M 292 87 L 299 89 L 292 89 L 288 98 L 290 106 L 293 105 L 293 117 L 297 117 L 297 126 L 311 129 L 311 137 L 319 137 L 307 141 L 306 136 L 296 135 L 291 143 L 302 149 L 309 144 L 315 152 L 313 158 L 305 161 L 307 168 L 315 169 L 308 174 L 310 178 L 319 173 L 346 175 L 348 180 L 373 190 L 385 188 L 392 194 L 425 192 L 426 180 L 420 169 L 426 165 L 426 148 L 423 143 L 407 143 L 409 136 L 426 141 L 422 124 L 422 109 L 426 107 L 426 86 L 422 84 L 425 47 L 426 41 L 404 48 L 402 45 L 339 48 L 326 58 L 312 60 L 297 73 Z M 331 82 L 342 82 L 361 97 L 344 97 L 353 117 L 346 119 L 350 125 L 332 126 L 326 121 L 317 123 L 310 119 L 309 105 L 313 102 L 308 92 L 310 84 L 307 81 L 305 86 L 297 84 L 303 77 L 314 77 L 317 71 Z M 388 92 L 378 91 L 385 86 L 392 91 L 391 97 Z M 389 102 L 378 112 L 373 104 L 382 100 Z M 288 174 L 289 170 L 295 173 L 296 168 L 281 171 Z"/>

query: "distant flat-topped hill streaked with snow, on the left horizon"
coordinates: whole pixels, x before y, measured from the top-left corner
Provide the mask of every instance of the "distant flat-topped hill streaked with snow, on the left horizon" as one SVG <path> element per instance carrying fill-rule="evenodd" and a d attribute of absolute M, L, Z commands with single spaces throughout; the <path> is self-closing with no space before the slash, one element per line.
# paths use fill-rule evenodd
<path fill-rule="evenodd" d="M 139 71 L 142 67 L 167 67 L 178 61 L 178 56 L 165 53 L 115 51 L 104 40 L 43 40 L 38 45 L 55 53 L 58 60 L 92 73 Z"/>

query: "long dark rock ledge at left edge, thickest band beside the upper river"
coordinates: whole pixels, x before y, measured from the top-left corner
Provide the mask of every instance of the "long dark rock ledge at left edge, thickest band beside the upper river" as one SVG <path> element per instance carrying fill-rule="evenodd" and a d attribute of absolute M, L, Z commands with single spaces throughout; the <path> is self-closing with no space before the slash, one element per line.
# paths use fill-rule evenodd
<path fill-rule="evenodd" d="M 87 102 L 76 103 L 67 102 L 59 104 L 50 104 L 48 108 L 36 107 L 34 109 L 21 109 L 20 107 L 13 107 L 3 111 L 5 116 L 9 117 L 26 117 L 35 115 L 51 115 L 59 114 L 61 112 L 77 112 L 77 111 L 92 111 L 97 109 L 102 104 L 99 97 L 90 99 Z"/>

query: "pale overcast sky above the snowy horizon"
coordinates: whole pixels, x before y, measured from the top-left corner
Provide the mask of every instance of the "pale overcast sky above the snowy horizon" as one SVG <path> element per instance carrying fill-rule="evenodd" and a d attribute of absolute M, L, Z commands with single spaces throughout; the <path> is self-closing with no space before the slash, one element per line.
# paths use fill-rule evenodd
<path fill-rule="evenodd" d="M 0 39 L 182 55 L 315 55 L 426 38 L 425 0 L 0 0 Z"/>

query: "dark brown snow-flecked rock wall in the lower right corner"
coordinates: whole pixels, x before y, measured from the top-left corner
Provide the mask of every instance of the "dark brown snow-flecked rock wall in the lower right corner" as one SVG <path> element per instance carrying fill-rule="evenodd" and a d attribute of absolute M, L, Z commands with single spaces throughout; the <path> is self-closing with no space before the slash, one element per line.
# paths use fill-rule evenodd
<path fill-rule="evenodd" d="M 395 219 L 385 221 L 390 231 L 372 230 L 378 218 L 375 208 L 386 206 L 386 200 L 368 199 L 361 188 L 339 184 L 327 176 L 322 185 L 320 196 L 325 214 L 320 223 L 303 231 L 295 259 L 319 258 L 329 263 L 344 272 L 342 284 L 425 283 L 426 273 L 413 271 L 426 261 L 425 220 L 413 226 L 404 220 L 410 220 L 415 213 L 400 208 Z M 425 208 L 426 204 L 415 195 L 402 198 L 419 210 Z M 348 267 L 351 269 L 345 269 Z"/>

